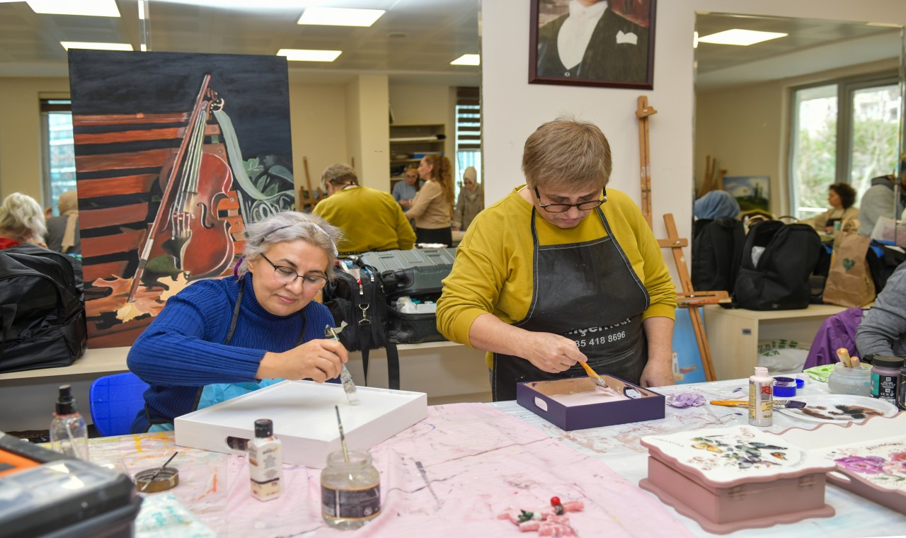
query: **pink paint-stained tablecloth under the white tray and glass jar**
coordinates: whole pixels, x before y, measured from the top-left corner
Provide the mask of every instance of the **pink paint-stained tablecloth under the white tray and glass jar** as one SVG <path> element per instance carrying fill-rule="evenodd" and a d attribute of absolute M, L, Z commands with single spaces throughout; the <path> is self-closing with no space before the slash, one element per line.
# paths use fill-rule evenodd
<path fill-rule="evenodd" d="M 92 439 L 92 460 L 135 472 L 177 449 L 177 495 L 218 536 L 321 536 L 318 469 L 284 466 L 284 495 L 250 493 L 245 455 L 176 447 L 172 434 Z M 382 514 L 354 536 L 518 536 L 496 519 L 507 508 L 546 506 L 556 495 L 582 500 L 572 513 L 580 536 L 689 536 L 651 495 L 610 467 L 484 404 L 430 407 L 428 418 L 371 449 L 381 471 Z"/>

